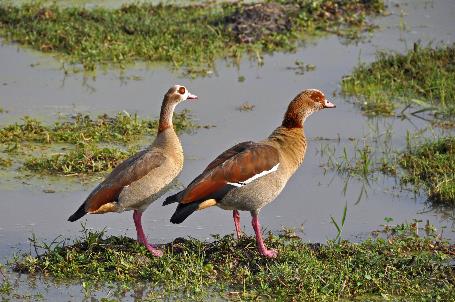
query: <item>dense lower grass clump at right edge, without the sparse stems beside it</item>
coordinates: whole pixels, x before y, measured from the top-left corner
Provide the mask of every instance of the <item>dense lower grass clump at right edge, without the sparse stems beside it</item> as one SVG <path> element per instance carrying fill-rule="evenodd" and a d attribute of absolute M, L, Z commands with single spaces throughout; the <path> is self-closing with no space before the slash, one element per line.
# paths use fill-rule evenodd
<path fill-rule="evenodd" d="M 440 138 L 411 148 L 400 159 L 405 183 L 426 187 L 434 202 L 455 204 L 455 137 Z"/>

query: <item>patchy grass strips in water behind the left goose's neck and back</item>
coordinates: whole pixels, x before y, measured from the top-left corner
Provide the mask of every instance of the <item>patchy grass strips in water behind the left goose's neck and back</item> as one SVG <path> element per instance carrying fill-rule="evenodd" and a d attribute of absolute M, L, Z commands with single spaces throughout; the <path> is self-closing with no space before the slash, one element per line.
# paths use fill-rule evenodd
<path fill-rule="evenodd" d="M 188 110 L 175 113 L 173 123 L 177 133 L 200 127 Z M 137 151 L 137 143 L 144 137 L 155 135 L 157 127 L 158 120 L 126 112 L 94 119 L 77 114 L 52 125 L 24 117 L 0 128 L 1 151 L 8 156 L 0 157 L 0 167 L 17 162 L 24 170 L 49 175 L 109 171 Z"/>

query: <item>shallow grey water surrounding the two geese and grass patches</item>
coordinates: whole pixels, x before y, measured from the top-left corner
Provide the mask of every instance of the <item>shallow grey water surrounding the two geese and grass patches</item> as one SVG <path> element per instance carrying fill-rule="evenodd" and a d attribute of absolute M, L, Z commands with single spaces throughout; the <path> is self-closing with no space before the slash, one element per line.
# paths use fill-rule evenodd
<path fill-rule="evenodd" d="M 186 162 L 180 181 L 188 184 L 221 151 L 237 142 L 259 140 L 269 135 L 281 122 L 288 102 L 300 90 L 318 88 L 331 96 L 337 108 L 316 113 L 305 123 L 305 133 L 310 140 L 305 162 L 283 193 L 262 210 L 262 225 L 273 232 L 280 231 L 282 226 L 300 229 L 303 225 L 300 235 L 304 240 L 324 242 L 336 235 L 330 217 L 339 221 L 347 203 L 344 238 L 363 239 L 384 223 L 384 217 L 392 217 L 393 223 L 429 220 L 438 231 L 444 229 L 445 237 L 453 240 L 455 214 L 452 209 L 432 208 L 425 202 L 424 195 L 415 197 L 400 190 L 393 178 L 380 176 L 365 185 L 356 179 L 347 182 L 346 177 L 333 172 L 324 173 L 320 167 L 324 159 L 318 150 L 324 145 L 333 145 L 337 150 L 346 146 L 351 150 L 349 138 L 371 138 L 392 127 L 391 143 L 399 149 L 405 144 L 407 130 L 415 132 L 429 126 L 417 118 L 368 119 L 347 100 L 332 97 L 332 93 L 339 90 L 342 76 L 359 61 L 374 60 L 377 50 L 401 52 L 412 48 L 418 40 L 423 44 L 455 42 L 454 1 L 390 1 L 389 7 L 392 14 L 375 20 L 380 28 L 366 41 L 346 45 L 338 37 L 326 36 L 308 42 L 295 53 L 266 55 L 261 67 L 247 59 L 238 68 L 220 61 L 213 76 L 194 80 L 169 71 L 166 66 L 134 67 L 121 76 L 112 70 L 101 71 L 96 78 L 83 74 L 65 76 L 53 58 L 5 44 L 0 47 L 0 104 L 9 112 L 0 114 L 0 123 L 17 120 L 25 114 L 53 118 L 58 112 L 80 111 L 96 114 L 126 110 L 155 117 L 167 88 L 174 83 L 184 84 L 199 96 L 199 100 L 187 102 L 178 109 L 190 108 L 201 124 L 216 125 L 181 137 Z M 297 75 L 287 68 L 296 60 L 316 65 L 316 70 Z M 238 81 L 240 76 L 245 77 L 244 82 Z M 136 77 L 139 80 L 131 79 Z M 237 110 L 236 107 L 244 102 L 254 104 L 254 110 Z M 321 137 L 334 140 L 318 139 Z M 69 238 L 77 236 L 80 224 L 69 223 L 66 219 L 95 186 L 94 183 L 81 186 L 47 180 L 27 183 L 0 179 L 2 258 L 11 256 L 18 248 L 27 249 L 27 238 L 32 232 L 47 241 L 62 234 Z M 57 192 L 44 193 L 43 188 L 49 187 Z M 364 189 L 367 194 L 362 193 L 357 202 Z M 233 232 L 231 213 L 218 208 L 195 213 L 181 225 L 171 225 L 168 219 L 174 207 L 161 207 L 161 202 L 152 204 L 143 216 L 145 230 L 153 242 L 185 236 L 209 239 L 210 234 Z M 132 213 L 86 216 L 82 221 L 90 228 L 107 227 L 109 234 L 134 237 L 131 216 Z M 241 213 L 241 219 L 245 230 L 251 234 L 249 213 Z M 80 293 L 79 287 L 74 290 L 76 294 Z M 62 298 L 52 292 L 46 296 Z"/>

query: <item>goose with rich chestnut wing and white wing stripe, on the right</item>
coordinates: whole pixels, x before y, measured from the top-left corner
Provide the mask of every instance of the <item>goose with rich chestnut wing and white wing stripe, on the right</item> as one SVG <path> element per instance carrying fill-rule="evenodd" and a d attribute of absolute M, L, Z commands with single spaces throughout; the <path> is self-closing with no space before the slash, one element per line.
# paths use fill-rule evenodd
<path fill-rule="evenodd" d="M 239 210 L 250 211 L 259 253 L 270 258 L 277 251 L 264 245 L 258 214 L 283 190 L 302 164 L 307 141 L 305 119 L 323 108 L 335 108 L 316 89 L 299 93 L 289 104 L 281 126 L 265 140 L 243 142 L 223 152 L 183 191 L 166 198 L 163 205 L 178 202 L 172 223 L 183 222 L 196 210 L 217 205 L 233 210 L 237 237 L 240 237 Z"/>

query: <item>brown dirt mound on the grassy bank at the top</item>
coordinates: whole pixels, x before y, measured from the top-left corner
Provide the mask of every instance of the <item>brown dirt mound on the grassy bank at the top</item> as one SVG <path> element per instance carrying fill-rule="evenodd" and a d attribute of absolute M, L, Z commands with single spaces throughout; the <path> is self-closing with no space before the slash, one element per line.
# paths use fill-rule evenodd
<path fill-rule="evenodd" d="M 289 6 L 278 3 L 258 3 L 238 8 L 226 17 L 228 31 L 240 43 L 254 43 L 264 36 L 283 33 L 292 29 Z"/>

